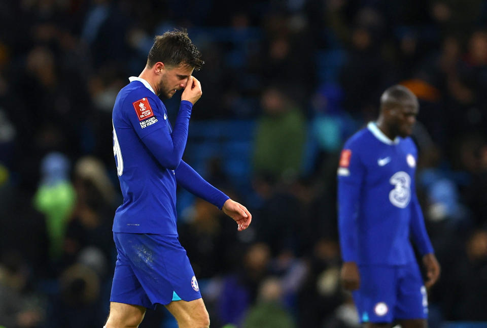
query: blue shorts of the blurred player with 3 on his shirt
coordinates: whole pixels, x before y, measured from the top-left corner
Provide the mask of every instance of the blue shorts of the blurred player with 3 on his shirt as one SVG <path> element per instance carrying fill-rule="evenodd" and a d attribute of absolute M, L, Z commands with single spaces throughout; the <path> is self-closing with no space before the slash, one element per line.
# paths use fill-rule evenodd
<path fill-rule="evenodd" d="M 428 297 L 417 263 L 359 266 L 360 288 L 353 292 L 360 321 L 426 319 Z"/>

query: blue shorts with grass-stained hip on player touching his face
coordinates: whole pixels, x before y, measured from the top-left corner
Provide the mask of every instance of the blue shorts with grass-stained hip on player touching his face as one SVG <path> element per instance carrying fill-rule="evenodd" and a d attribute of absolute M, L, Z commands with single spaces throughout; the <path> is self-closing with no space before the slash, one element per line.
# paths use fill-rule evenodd
<path fill-rule="evenodd" d="M 201 298 L 186 250 L 177 235 L 113 233 L 117 262 L 111 302 L 155 309 Z"/>

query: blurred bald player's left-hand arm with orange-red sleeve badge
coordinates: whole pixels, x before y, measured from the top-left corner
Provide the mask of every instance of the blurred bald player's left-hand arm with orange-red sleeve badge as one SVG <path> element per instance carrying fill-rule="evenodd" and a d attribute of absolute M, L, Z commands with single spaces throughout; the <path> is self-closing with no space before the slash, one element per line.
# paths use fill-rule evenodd
<path fill-rule="evenodd" d="M 358 289 L 358 212 L 365 167 L 358 153 L 343 149 L 338 167 L 338 232 L 343 259 L 341 280 L 346 289 Z"/>

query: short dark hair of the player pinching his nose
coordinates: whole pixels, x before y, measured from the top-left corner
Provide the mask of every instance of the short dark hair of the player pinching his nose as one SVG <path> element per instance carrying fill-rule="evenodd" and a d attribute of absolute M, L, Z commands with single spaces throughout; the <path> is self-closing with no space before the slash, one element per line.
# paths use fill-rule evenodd
<path fill-rule="evenodd" d="M 204 61 L 201 53 L 191 43 L 186 30 L 167 31 L 161 36 L 156 36 L 149 55 L 147 67 L 151 68 L 158 61 L 169 67 L 188 65 L 196 71 L 201 70 Z"/>

